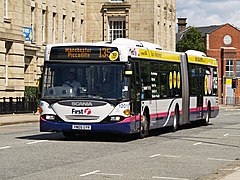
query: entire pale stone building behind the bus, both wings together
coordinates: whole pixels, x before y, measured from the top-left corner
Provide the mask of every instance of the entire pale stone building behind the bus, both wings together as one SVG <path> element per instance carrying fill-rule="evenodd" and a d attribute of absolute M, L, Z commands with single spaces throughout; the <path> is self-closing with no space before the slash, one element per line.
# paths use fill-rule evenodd
<path fill-rule="evenodd" d="M 0 0 L 0 98 L 36 87 L 48 43 L 118 37 L 175 50 L 176 0 Z"/>

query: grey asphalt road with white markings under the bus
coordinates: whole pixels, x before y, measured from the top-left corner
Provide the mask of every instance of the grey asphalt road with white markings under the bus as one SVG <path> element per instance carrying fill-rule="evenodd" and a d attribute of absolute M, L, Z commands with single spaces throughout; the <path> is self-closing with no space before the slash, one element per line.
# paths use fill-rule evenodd
<path fill-rule="evenodd" d="M 217 179 L 240 167 L 240 111 L 145 139 L 65 138 L 38 123 L 0 126 L 0 179 Z"/>

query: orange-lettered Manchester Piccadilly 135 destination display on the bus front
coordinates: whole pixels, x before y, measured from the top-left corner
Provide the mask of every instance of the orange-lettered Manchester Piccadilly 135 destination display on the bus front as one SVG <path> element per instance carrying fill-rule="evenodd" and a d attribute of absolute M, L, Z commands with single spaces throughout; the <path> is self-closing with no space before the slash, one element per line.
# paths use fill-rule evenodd
<path fill-rule="evenodd" d="M 116 47 L 104 46 L 57 46 L 50 51 L 50 60 L 119 60 Z"/>

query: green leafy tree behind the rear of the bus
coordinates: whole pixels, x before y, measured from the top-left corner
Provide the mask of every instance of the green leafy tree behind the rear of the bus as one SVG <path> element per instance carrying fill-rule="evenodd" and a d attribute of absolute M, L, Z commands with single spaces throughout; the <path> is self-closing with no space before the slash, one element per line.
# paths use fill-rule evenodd
<path fill-rule="evenodd" d="M 178 52 L 185 52 L 187 50 L 206 51 L 202 35 L 195 27 L 190 27 L 184 32 L 182 38 L 177 43 Z"/>

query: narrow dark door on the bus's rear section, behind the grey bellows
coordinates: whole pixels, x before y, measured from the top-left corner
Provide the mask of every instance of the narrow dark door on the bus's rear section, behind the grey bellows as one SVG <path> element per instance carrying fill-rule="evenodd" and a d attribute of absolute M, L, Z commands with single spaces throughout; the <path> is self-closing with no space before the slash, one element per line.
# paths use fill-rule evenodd
<path fill-rule="evenodd" d="M 196 66 L 197 119 L 203 118 L 204 70 Z"/>

